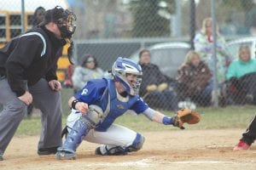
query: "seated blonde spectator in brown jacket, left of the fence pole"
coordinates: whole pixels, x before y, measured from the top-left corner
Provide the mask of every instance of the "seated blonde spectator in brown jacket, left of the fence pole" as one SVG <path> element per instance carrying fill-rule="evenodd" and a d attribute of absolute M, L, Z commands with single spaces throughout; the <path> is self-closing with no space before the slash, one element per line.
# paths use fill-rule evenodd
<path fill-rule="evenodd" d="M 198 53 L 190 50 L 183 65 L 177 71 L 178 96 L 180 100 L 190 99 L 196 105 L 211 105 L 212 74 Z"/>

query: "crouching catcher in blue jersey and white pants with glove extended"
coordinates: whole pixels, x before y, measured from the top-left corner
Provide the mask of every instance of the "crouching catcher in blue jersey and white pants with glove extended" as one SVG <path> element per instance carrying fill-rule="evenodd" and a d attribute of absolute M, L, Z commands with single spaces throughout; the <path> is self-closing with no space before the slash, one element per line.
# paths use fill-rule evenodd
<path fill-rule="evenodd" d="M 140 150 L 144 143 L 141 133 L 113 124 L 127 110 L 182 129 L 184 122 L 200 121 L 199 114 L 189 109 L 177 111 L 177 115 L 170 117 L 148 107 L 138 96 L 142 74 L 140 65 L 130 59 L 118 58 L 112 67 L 113 79 L 91 80 L 74 94 L 68 101 L 72 108 L 67 117 L 69 133 L 55 158 L 74 159 L 82 139 L 101 144 L 95 150 L 96 155 L 118 156 Z"/>

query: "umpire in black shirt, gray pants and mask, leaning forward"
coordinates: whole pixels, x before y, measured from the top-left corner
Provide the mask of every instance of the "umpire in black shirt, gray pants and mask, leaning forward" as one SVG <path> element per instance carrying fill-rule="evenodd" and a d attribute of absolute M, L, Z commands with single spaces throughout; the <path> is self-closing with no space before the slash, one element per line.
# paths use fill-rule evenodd
<path fill-rule="evenodd" d="M 56 68 L 61 48 L 73 44 L 74 20 L 75 14 L 56 6 L 46 11 L 42 23 L 0 49 L 0 160 L 31 103 L 42 111 L 38 155 L 55 154 L 61 146 L 61 83 Z"/>

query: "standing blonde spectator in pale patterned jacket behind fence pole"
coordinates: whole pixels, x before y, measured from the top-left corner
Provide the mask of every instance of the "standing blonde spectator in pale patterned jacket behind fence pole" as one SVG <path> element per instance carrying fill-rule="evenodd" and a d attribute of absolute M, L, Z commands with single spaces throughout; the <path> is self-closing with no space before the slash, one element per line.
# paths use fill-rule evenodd
<path fill-rule="evenodd" d="M 224 82 L 226 67 L 230 64 L 230 56 L 226 50 L 226 42 L 224 37 L 218 32 L 218 26 L 216 26 L 217 33 L 217 78 L 218 82 Z M 212 19 L 206 18 L 202 22 L 201 31 L 195 35 L 194 44 L 195 51 L 201 55 L 201 59 L 209 66 L 210 71 L 214 71 L 214 62 L 212 56 Z"/>

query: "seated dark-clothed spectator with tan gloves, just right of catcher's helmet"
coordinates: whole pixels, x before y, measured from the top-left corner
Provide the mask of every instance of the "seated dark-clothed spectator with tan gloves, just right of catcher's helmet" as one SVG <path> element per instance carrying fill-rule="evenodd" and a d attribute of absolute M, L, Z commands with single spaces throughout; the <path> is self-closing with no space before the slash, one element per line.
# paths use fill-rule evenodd
<path fill-rule="evenodd" d="M 139 54 L 139 64 L 143 69 L 140 96 L 154 108 L 177 111 L 176 93 L 168 84 L 168 77 L 160 72 L 157 65 L 150 63 L 150 52 L 143 49 Z"/>

